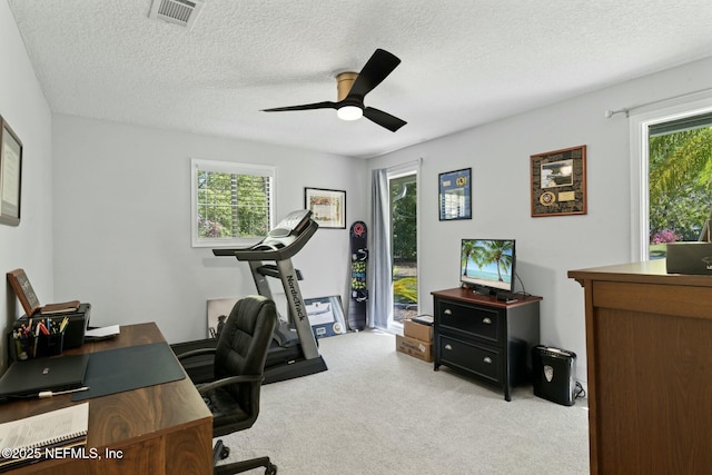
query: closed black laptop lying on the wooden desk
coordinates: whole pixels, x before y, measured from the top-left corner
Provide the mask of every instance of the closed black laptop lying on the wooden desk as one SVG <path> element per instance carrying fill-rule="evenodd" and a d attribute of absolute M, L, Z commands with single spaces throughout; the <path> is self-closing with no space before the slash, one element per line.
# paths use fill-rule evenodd
<path fill-rule="evenodd" d="M 31 397 L 42 390 L 81 387 L 88 362 L 88 355 L 68 355 L 13 363 L 0 377 L 0 397 Z"/>

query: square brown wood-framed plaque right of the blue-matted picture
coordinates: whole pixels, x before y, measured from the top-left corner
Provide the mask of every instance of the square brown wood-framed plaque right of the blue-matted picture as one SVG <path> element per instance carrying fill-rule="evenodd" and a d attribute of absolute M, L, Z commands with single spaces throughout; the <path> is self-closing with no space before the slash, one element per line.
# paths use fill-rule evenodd
<path fill-rule="evenodd" d="M 586 214 L 586 146 L 533 155 L 532 217 Z"/>

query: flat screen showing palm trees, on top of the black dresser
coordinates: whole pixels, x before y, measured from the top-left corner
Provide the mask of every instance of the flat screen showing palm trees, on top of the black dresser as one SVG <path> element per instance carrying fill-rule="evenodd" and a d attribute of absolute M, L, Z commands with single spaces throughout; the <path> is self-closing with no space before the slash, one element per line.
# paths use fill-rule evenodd
<path fill-rule="evenodd" d="M 459 254 L 461 284 L 482 294 L 514 291 L 514 239 L 463 239 Z"/>

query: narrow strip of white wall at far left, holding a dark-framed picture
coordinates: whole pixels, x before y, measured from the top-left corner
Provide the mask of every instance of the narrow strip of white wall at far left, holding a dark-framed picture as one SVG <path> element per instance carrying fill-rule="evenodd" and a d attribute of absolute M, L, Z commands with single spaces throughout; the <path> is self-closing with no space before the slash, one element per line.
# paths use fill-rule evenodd
<path fill-rule="evenodd" d="M 0 115 L 23 145 L 20 225 L 0 225 L 0 273 L 23 268 L 41 301 L 52 289 L 51 115 L 14 18 L 0 1 Z M 24 311 L 9 285 L 0 286 L 0 369 L 12 321 Z"/>

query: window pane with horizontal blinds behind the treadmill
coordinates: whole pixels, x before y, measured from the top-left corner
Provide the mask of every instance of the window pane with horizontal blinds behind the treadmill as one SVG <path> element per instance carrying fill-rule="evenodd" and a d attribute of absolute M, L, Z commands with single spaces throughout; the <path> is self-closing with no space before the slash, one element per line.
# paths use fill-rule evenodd
<path fill-rule="evenodd" d="M 273 227 L 275 168 L 191 160 L 192 245 L 245 245 Z"/>

